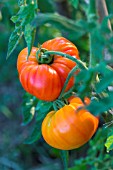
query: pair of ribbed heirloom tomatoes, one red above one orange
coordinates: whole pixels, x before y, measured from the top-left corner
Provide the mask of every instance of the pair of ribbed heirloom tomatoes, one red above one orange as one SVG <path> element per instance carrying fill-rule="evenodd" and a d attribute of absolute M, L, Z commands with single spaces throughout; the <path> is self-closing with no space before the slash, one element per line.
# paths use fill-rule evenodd
<path fill-rule="evenodd" d="M 55 54 L 56 52 L 56 54 Z M 64 37 L 57 37 L 33 47 L 28 57 L 27 48 L 23 49 L 17 60 L 19 79 L 23 88 L 39 100 L 54 102 L 60 96 L 64 83 L 76 63 L 58 53 L 80 59 L 77 47 Z M 74 74 L 77 75 L 79 70 Z M 65 88 L 74 85 L 72 76 Z M 76 80 L 75 80 L 76 81 Z M 51 110 L 43 120 L 42 136 L 54 148 L 71 150 L 85 144 L 96 132 L 98 118 L 85 109 L 90 99 L 84 102 L 71 97 L 64 106 Z"/>

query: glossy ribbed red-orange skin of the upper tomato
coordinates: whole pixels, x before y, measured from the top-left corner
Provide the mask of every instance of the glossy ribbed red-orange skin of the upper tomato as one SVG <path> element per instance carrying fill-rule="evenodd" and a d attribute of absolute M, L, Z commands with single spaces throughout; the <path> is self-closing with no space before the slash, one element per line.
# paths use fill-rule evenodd
<path fill-rule="evenodd" d="M 48 40 L 42 44 L 47 50 L 61 51 L 79 59 L 76 46 L 63 37 Z M 40 100 L 53 101 L 62 90 L 64 82 L 76 65 L 75 62 L 62 56 L 54 56 L 52 64 L 39 64 L 36 59 L 38 48 L 33 47 L 27 60 L 27 48 L 23 49 L 17 60 L 19 79 L 23 88 Z M 73 85 L 70 79 L 66 91 Z"/>

